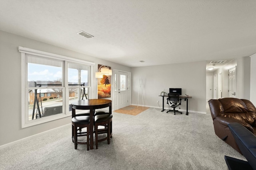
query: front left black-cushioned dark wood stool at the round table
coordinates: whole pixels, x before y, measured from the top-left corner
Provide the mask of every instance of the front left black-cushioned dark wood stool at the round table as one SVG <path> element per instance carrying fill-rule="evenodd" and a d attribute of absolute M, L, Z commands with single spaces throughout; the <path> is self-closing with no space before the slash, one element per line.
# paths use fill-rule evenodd
<path fill-rule="evenodd" d="M 73 134 L 72 140 L 75 145 L 75 149 L 77 149 L 77 144 L 87 145 L 87 150 L 89 150 L 90 143 L 89 143 L 89 135 L 90 135 L 90 116 L 75 116 L 72 118 L 72 126 L 73 128 Z M 86 127 L 86 131 L 78 131 L 79 129 L 82 129 Z M 77 137 L 80 136 L 86 136 L 87 140 L 86 142 L 78 141 Z"/>

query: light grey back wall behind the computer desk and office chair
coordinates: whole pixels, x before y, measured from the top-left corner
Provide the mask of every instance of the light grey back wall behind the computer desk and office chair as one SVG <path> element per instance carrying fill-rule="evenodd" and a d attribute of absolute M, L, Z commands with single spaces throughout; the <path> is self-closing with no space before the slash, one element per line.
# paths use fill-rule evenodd
<path fill-rule="evenodd" d="M 192 96 L 188 110 L 206 112 L 206 61 L 180 64 L 166 64 L 132 68 L 132 104 L 137 104 L 139 79 L 143 79 L 142 92 L 146 106 L 162 108 L 160 92 L 169 88 L 182 88 L 182 95 Z M 144 105 L 140 96 L 139 105 Z M 164 100 L 166 104 L 166 98 Z M 181 109 L 186 110 L 186 102 L 182 100 Z"/>

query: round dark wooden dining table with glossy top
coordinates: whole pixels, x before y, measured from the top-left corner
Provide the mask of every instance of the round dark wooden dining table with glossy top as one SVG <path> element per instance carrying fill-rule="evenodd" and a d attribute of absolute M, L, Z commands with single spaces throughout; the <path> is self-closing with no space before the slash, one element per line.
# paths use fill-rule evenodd
<path fill-rule="evenodd" d="M 102 109 L 105 107 L 109 107 L 109 113 L 112 114 L 112 101 L 108 99 L 78 100 L 77 102 L 72 103 L 72 118 L 76 116 L 76 109 L 90 110 L 90 149 L 93 149 L 93 117 L 95 109 Z M 72 130 L 72 138 L 73 136 L 74 134 Z"/>

